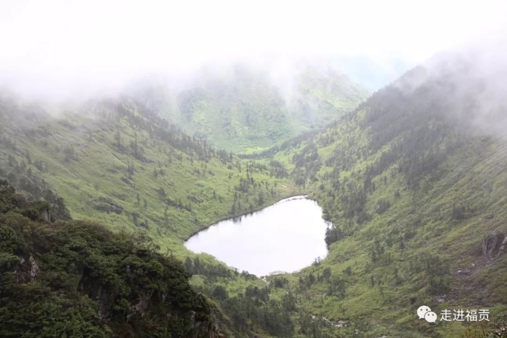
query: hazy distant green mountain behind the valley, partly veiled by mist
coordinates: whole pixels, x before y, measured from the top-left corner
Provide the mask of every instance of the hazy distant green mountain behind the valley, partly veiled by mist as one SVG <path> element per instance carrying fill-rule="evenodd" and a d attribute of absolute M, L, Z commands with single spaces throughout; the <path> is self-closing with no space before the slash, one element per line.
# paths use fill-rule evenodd
<path fill-rule="evenodd" d="M 317 66 L 301 66 L 283 86 L 269 77 L 237 65 L 227 75 L 202 76 L 177 94 L 147 86 L 136 95 L 188 134 L 231 151 L 269 147 L 320 128 L 368 96 L 343 74 Z"/>

